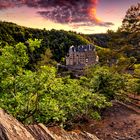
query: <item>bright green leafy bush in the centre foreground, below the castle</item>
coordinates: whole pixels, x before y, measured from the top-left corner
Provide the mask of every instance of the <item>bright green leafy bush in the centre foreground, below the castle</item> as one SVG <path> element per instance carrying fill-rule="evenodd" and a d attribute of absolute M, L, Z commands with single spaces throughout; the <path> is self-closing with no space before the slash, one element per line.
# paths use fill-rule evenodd
<path fill-rule="evenodd" d="M 40 106 L 41 114 L 45 115 L 43 122 L 46 123 L 50 120 L 72 122 L 77 116 L 90 116 L 94 107 L 104 108 L 108 105 L 104 97 L 91 94 L 81 87 L 77 80 L 69 78 L 53 80 L 49 90 L 46 89 L 47 92 L 49 94 L 44 94 Z"/>

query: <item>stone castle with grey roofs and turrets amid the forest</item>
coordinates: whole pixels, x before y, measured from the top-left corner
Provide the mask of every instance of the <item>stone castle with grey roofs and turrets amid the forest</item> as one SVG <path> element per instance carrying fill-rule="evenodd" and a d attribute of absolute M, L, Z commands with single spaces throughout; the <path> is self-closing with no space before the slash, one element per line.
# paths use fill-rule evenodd
<path fill-rule="evenodd" d="M 66 56 L 66 66 L 82 69 L 85 66 L 94 65 L 99 61 L 95 46 L 80 45 L 71 46 Z"/>

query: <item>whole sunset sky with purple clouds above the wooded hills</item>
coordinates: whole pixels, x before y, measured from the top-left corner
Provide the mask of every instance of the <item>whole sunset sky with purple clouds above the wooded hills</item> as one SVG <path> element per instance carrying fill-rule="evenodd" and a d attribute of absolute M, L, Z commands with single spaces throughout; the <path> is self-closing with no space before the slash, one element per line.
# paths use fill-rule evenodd
<path fill-rule="evenodd" d="M 105 33 L 140 0 L 0 0 L 0 20 L 46 30 Z"/>

